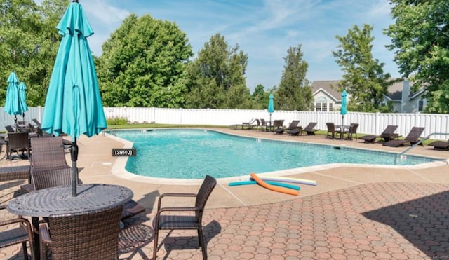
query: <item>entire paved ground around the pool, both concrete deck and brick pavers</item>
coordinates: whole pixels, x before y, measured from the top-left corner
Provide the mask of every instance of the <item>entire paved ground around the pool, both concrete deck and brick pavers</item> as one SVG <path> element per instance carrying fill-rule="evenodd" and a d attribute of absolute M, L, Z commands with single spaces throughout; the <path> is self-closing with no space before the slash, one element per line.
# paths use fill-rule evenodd
<path fill-rule="evenodd" d="M 212 128 L 211 128 L 212 129 Z M 236 135 L 298 142 L 354 146 L 401 152 L 404 147 L 331 140 L 323 136 L 275 135 L 253 130 L 217 128 Z M 156 199 L 166 192 L 196 193 L 199 184 L 156 183 L 133 177 L 115 165 L 113 148 L 122 142 L 106 136 L 79 139 L 79 177 L 84 183 L 127 186 L 146 214 L 126 221 L 129 228 L 149 230 Z M 417 146 L 410 154 L 449 158 L 449 151 Z M 298 155 L 300 156 L 300 155 Z M 67 155 L 69 161 L 69 155 Z M 0 167 L 26 164 L 1 160 Z M 316 180 L 290 196 L 257 185 L 227 186 L 219 179 L 203 217 L 209 259 L 436 259 L 449 257 L 449 165 L 405 167 L 323 165 L 290 170 L 288 177 Z M 207 172 L 205 172 L 207 174 Z M 248 173 L 249 175 L 249 173 Z M 25 181 L 0 182 L 1 204 L 20 194 Z M 170 201 L 174 205 L 180 202 Z M 173 205 L 172 204 L 172 205 Z M 14 217 L 2 210 L 1 219 Z M 134 224 L 134 225 L 133 225 Z M 135 233 L 139 233 L 135 231 Z M 161 232 L 159 258 L 201 259 L 195 232 Z M 189 240 L 193 236 L 193 239 Z M 165 238 L 163 244 L 161 242 Z M 150 259 L 152 233 L 141 241 L 123 242 L 120 259 Z M 0 259 L 20 259 L 20 247 L 0 250 Z"/>

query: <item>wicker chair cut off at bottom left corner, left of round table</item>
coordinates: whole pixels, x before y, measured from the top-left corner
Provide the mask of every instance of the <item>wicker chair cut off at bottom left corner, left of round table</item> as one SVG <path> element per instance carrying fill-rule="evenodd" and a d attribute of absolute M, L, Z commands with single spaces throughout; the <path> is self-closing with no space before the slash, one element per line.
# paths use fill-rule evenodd
<path fill-rule="evenodd" d="M 3 210 L 4 208 L 4 206 L 1 206 L 0 210 Z M 0 248 L 22 244 L 23 258 L 27 260 L 27 242 L 29 242 L 31 257 L 32 259 L 36 259 L 34 257 L 34 248 L 32 246 L 33 231 L 31 224 L 29 224 L 29 221 L 27 221 L 27 219 L 17 217 L 15 219 L 0 221 L 0 228 Z"/>

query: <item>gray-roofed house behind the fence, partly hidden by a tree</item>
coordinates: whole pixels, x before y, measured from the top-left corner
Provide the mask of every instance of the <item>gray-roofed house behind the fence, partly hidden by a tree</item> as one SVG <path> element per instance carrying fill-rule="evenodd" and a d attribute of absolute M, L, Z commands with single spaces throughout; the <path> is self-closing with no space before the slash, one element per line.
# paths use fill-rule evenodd
<path fill-rule="evenodd" d="M 339 81 L 314 81 L 311 84 L 314 95 L 315 111 L 338 111 L 342 105 L 342 94 L 337 91 Z M 420 88 L 413 93 L 410 81 L 400 81 L 388 88 L 388 93 L 384 97 L 383 105 L 388 102 L 393 104 L 393 111 L 396 113 L 420 112 L 426 107 L 427 100 L 423 97 L 424 88 Z M 348 101 L 351 96 L 348 95 Z"/>

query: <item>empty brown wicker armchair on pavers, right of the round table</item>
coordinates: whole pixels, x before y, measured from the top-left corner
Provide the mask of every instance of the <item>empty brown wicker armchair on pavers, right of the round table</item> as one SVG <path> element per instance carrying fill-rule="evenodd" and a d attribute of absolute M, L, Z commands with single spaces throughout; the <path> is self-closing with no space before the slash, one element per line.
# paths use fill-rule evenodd
<path fill-rule="evenodd" d="M 203 252 L 203 259 L 207 259 L 206 245 L 203 238 L 203 211 L 206 202 L 217 185 L 217 181 L 206 175 L 206 178 L 201 184 L 198 193 L 163 193 L 159 196 L 156 216 L 153 220 L 154 228 L 154 247 L 153 259 L 156 259 L 157 253 L 157 239 L 159 230 L 175 230 L 175 229 L 196 229 L 198 231 L 199 246 Z M 165 197 L 196 197 L 195 205 L 192 207 L 161 207 L 162 198 Z M 165 214 L 172 212 L 172 214 Z M 190 214 L 173 214 L 173 212 L 189 212 Z"/>

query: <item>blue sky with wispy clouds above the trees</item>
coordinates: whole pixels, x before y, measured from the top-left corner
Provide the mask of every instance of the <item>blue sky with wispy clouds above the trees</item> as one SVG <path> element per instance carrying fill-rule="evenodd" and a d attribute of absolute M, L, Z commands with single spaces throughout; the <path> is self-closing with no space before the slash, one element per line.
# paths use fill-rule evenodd
<path fill-rule="evenodd" d="M 35 0 L 41 2 L 41 0 Z M 345 36 L 354 25 L 374 27 L 373 57 L 384 72 L 399 77 L 391 43 L 383 34 L 394 21 L 386 0 L 79 0 L 94 34 L 88 38 L 96 56 L 104 43 L 131 13 L 175 22 L 187 34 L 194 54 L 220 33 L 229 46 L 248 55 L 246 84 L 265 90 L 279 85 L 290 47 L 301 45 L 309 64 L 309 81 L 338 80 L 342 70 L 332 54 L 336 35 Z"/>

